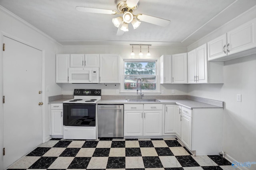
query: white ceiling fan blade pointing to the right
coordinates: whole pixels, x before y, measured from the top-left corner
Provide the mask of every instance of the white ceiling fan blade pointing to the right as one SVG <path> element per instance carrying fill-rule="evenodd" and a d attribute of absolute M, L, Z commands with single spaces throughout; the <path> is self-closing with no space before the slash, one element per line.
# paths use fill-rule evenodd
<path fill-rule="evenodd" d="M 162 26 L 162 27 L 166 27 L 171 22 L 170 20 L 165 20 L 165 19 L 162 19 L 162 18 L 157 18 L 157 17 L 148 16 L 148 15 L 144 15 L 144 14 L 139 14 L 137 16 L 137 19 L 140 20 L 140 21 L 144 21 L 144 22 L 155 24 L 155 25 L 159 25 L 159 26 Z"/>

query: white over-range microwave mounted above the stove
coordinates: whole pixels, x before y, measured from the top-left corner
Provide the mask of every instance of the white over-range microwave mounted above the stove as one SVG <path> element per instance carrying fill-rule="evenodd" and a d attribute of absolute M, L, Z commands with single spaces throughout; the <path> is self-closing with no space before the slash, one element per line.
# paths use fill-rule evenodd
<path fill-rule="evenodd" d="M 99 83 L 99 68 L 69 68 L 69 83 Z"/>

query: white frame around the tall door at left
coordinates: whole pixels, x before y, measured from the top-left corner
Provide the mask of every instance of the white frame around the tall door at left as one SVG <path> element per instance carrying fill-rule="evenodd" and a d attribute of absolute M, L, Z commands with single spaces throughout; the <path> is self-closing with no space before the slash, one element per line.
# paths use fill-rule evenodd
<path fill-rule="evenodd" d="M 2 44 L 3 44 L 3 39 L 4 37 L 8 37 L 10 39 L 13 39 L 15 41 L 18 41 L 20 43 L 23 43 L 25 45 L 28 45 L 30 47 L 33 47 L 35 49 L 38 49 L 40 51 L 42 51 L 42 102 L 44 103 L 44 105 L 42 105 L 42 143 L 46 142 L 46 127 L 45 127 L 45 123 L 46 123 L 46 119 L 45 119 L 45 106 L 46 106 L 46 100 L 45 100 L 45 50 L 42 49 L 41 47 L 38 47 L 36 45 L 32 45 L 31 43 L 29 43 L 28 41 L 24 41 L 23 39 L 20 39 L 14 35 L 10 35 L 2 30 L 0 30 L 0 97 L 2 100 L 2 96 L 3 96 L 3 57 L 4 57 L 4 51 L 2 50 Z M 3 131 L 3 103 L 1 102 L 0 104 L 0 170 L 3 170 L 4 166 L 3 166 L 3 162 L 4 162 L 4 156 L 2 154 L 2 149 L 4 148 L 4 131 Z"/>

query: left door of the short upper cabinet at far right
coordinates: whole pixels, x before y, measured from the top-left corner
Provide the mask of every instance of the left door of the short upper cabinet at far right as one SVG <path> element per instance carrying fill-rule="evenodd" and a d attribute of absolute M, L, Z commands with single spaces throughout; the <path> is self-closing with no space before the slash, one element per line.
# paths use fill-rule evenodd
<path fill-rule="evenodd" d="M 208 47 L 208 61 L 218 59 L 228 55 L 227 52 L 227 34 L 213 39 L 207 43 Z"/>

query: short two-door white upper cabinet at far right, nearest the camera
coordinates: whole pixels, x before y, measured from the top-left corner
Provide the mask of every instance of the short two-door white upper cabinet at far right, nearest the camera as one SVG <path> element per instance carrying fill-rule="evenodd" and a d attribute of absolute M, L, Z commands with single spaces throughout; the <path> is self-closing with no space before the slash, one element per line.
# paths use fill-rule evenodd
<path fill-rule="evenodd" d="M 255 25 L 256 18 L 209 41 L 208 61 L 228 61 L 255 54 L 256 49 L 253 49 L 256 47 Z"/>

